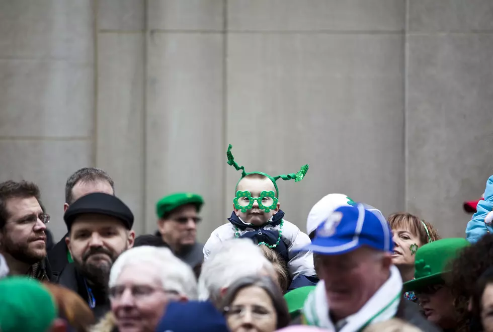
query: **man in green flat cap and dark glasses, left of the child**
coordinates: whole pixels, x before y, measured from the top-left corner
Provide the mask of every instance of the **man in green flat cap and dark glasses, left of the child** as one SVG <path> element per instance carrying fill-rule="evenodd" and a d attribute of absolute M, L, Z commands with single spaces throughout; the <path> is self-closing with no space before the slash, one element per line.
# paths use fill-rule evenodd
<path fill-rule="evenodd" d="M 197 242 L 198 216 L 204 200 L 198 194 L 175 193 L 156 203 L 157 236 L 168 244 L 182 261 L 196 268 L 202 264 L 203 244 Z"/>

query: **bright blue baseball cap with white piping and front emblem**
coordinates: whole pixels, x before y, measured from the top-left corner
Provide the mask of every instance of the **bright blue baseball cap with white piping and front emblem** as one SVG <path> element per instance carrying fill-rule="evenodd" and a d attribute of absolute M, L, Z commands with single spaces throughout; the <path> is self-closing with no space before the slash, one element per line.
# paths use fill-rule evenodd
<path fill-rule="evenodd" d="M 383 252 L 392 252 L 394 246 L 392 231 L 383 214 L 361 203 L 334 210 L 317 227 L 315 234 L 303 251 L 341 255 L 364 245 Z"/>

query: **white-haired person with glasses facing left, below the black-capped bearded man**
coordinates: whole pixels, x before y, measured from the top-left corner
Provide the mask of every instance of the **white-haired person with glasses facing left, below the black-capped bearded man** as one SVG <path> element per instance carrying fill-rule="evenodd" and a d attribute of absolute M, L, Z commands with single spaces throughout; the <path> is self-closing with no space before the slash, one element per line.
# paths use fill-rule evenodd
<path fill-rule="evenodd" d="M 197 281 L 169 248 L 139 246 L 113 264 L 109 294 L 112 311 L 93 332 L 151 332 L 170 301 L 197 298 Z"/>

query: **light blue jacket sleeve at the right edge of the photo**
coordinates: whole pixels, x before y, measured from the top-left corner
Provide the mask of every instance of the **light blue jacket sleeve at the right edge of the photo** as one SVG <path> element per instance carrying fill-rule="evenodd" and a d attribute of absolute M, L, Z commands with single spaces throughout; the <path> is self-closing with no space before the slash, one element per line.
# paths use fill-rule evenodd
<path fill-rule="evenodd" d="M 491 223 L 484 222 L 486 215 L 493 211 L 493 175 L 486 182 L 484 198 L 477 203 L 476 210 L 466 227 L 466 239 L 471 243 L 477 242 L 486 233 L 493 233 Z"/>

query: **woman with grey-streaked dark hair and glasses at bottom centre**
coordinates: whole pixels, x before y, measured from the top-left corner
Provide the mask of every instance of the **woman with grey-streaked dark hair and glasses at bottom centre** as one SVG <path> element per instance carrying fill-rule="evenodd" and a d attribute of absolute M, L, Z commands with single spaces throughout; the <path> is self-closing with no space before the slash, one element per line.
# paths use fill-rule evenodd
<path fill-rule="evenodd" d="M 274 332 L 290 316 L 279 286 L 269 277 L 245 277 L 228 287 L 221 305 L 231 332 Z"/>

